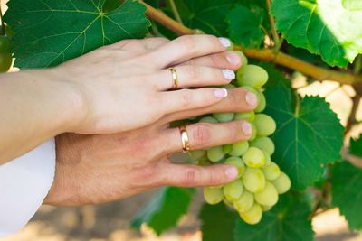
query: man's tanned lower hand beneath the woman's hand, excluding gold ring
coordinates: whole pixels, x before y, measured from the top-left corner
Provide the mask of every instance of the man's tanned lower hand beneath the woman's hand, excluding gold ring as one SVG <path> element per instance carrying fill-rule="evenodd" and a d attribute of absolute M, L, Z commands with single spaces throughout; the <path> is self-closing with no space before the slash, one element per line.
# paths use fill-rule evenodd
<path fill-rule="evenodd" d="M 214 186 L 233 181 L 237 170 L 229 165 L 201 167 L 168 160 L 182 149 L 176 119 L 224 111 L 250 111 L 243 88 L 211 107 L 165 116 L 152 125 L 120 134 L 62 134 L 56 138 L 55 180 L 44 204 L 80 206 L 129 198 L 163 185 Z M 252 126 L 245 121 L 186 125 L 192 150 L 247 140 Z"/>

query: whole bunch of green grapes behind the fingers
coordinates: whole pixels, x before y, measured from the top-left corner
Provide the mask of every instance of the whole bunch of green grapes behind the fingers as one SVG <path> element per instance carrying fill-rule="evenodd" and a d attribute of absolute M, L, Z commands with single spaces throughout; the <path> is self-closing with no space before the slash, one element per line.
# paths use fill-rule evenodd
<path fill-rule="evenodd" d="M 258 107 L 246 113 L 218 113 L 204 116 L 199 122 L 221 123 L 246 120 L 252 124 L 252 137 L 248 141 L 216 146 L 207 150 L 190 152 L 199 164 L 225 163 L 237 167 L 238 178 L 230 183 L 204 189 L 205 201 L 209 204 L 224 202 L 238 211 L 248 224 L 257 224 L 262 212 L 268 211 L 291 187 L 289 177 L 271 161 L 275 146 L 269 135 L 276 129 L 271 116 L 262 114 L 266 106 L 262 86 L 268 73 L 256 65 L 248 65 L 242 52 L 243 67 L 236 72 L 233 87 L 247 88 L 258 97 Z"/>

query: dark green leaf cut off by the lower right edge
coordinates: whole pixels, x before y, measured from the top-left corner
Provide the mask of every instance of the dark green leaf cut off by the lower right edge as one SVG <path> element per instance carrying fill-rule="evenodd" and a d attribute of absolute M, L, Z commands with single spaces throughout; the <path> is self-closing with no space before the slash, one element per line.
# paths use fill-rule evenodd
<path fill-rule="evenodd" d="M 333 166 L 332 204 L 348 220 L 350 229 L 362 229 L 362 169 L 349 162 Z"/>

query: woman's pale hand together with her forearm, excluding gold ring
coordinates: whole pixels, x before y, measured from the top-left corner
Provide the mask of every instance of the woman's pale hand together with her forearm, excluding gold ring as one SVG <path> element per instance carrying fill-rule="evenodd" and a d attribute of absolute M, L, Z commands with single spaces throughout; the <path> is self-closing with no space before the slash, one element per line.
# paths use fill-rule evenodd
<path fill-rule="evenodd" d="M 223 70 L 240 65 L 216 37 L 192 35 L 121 41 L 56 68 L 0 75 L 0 164 L 58 134 L 119 133 L 211 106 L 224 95 L 205 87 L 228 83 Z M 167 91 L 170 66 L 183 89 Z"/>

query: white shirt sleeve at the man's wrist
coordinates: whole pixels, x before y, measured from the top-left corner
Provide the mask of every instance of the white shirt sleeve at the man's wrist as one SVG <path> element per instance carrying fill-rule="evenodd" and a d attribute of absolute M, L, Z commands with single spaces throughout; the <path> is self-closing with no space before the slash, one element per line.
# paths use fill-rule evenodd
<path fill-rule="evenodd" d="M 54 139 L 0 165 L 0 237 L 22 229 L 43 203 L 55 172 Z"/>

